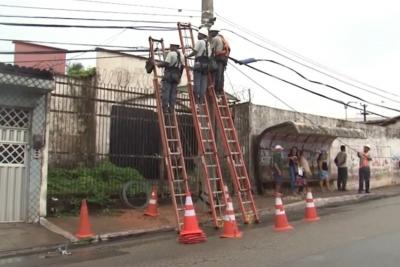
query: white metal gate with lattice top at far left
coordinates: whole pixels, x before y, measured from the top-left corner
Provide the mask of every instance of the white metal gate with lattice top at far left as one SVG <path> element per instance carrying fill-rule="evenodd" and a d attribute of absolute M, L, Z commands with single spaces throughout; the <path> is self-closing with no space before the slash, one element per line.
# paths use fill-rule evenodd
<path fill-rule="evenodd" d="M 0 107 L 0 222 L 25 221 L 29 110 Z"/>

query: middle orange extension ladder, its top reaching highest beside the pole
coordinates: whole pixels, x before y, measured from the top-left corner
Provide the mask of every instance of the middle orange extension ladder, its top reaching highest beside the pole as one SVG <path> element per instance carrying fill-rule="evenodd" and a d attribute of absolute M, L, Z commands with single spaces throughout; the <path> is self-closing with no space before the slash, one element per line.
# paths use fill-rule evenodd
<path fill-rule="evenodd" d="M 190 106 L 201 156 L 201 167 L 207 188 L 208 201 L 215 227 L 222 227 L 227 196 L 224 192 L 224 181 L 222 178 L 212 121 L 210 119 L 206 96 L 204 96 L 204 102 L 202 102 L 202 104 L 196 103 L 193 91 L 192 73 L 194 59 L 186 57 L 194 48 L 193 31 L 190 23 L 178 23 L 178 31 L 182 53 L 185 55 L 185 73 L 188 81 L 187 86 Z"/>

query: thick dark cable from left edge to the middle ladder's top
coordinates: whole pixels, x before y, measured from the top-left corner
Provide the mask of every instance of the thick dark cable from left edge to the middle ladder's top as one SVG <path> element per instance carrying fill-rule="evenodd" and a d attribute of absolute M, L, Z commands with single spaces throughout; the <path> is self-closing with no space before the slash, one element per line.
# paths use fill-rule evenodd
<path fill-rule="evenodd" d="M 44 28 L 84 28 L 84 29 L 130 29 L 137 31 L 175 31 L 176 27 L 164 26 L 99 26 L 99 25 L 67 25 L 67 24 L 43 24 L 43 23 L 14 23 L 0 22 L 0 25 L 17 27 L 44 27 Z"/>

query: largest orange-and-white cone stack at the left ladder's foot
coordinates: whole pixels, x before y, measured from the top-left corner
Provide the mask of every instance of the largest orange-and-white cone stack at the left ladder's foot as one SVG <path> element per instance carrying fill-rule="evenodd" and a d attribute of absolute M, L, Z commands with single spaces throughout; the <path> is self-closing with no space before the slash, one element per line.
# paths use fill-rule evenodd
<path fill-rule="evenodd" d="M 183 228 L 180 231 L 179 242 L 183 244 L 196 244 L 206 241 L 207 237 L 200 229 L 190 193 L 186 193 L 185 217 Z"/>

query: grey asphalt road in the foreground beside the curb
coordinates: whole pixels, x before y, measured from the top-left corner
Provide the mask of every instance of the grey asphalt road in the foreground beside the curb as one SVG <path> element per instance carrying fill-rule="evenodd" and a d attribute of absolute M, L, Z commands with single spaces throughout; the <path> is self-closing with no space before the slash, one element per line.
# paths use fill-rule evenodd
<path fill-rule="evenodd" d="M 320 210 L 316 223 L 294 221 L 276 233 L 270 222 L 244 228 L 242 239 L 180 245 L 172 233 L 72 250 L 70 256 L 33 255 L 2 266 L 400 266 L 400 197 Z M 294 215 L 299 218 L 298 215 Z M 212 234 L 214 233 L 214 234 Z"/>

